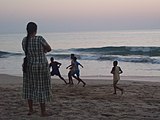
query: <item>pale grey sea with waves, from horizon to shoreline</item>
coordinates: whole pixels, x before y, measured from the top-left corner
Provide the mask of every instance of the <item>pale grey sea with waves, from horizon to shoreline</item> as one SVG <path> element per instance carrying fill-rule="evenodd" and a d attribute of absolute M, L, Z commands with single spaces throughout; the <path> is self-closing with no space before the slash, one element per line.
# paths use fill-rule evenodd
<path fill-rule="evenodd" d="M 47 59 L 62 63 L 61 74 L 74 53 L 84 66 L 81 76 L 110 76 L 112 62 L 119 61 L 124 76 L 160 75 L 160 30 L 39 33 L 52 47 Z M 0 34 L 0 73 L 22 76 L 26 34 Z"/>

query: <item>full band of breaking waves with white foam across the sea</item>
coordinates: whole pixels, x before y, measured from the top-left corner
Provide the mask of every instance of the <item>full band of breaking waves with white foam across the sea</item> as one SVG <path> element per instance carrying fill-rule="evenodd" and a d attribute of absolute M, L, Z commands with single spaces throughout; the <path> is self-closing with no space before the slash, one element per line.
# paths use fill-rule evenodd
<path fill-rule="evenodd" d="M 74 53 L 80 60 L 97 60 L 133 63 L 160 64 L 160 47 L 99 47 L 99 48 L 72 48 L 53 50 L 47 57 L 55 59 L 70 59 L 70 54 Z M 24 53 L 0 51 L 0 58 L 9 56 L 22 56 Z"/>

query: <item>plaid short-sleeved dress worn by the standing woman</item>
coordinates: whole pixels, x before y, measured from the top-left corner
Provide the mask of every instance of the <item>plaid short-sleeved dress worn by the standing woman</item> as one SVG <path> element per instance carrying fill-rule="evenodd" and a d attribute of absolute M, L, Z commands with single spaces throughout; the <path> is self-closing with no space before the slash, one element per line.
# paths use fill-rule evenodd
<path fill-rule="evenodd" d="M 26 37 L 22 41 L 25 51 Z M 51 76 L 43 46 L 48 43 L 42 36 L 28 40 L 27 72 L 23 73 L 23 98 L 44 103 L 51 99 Z"/>

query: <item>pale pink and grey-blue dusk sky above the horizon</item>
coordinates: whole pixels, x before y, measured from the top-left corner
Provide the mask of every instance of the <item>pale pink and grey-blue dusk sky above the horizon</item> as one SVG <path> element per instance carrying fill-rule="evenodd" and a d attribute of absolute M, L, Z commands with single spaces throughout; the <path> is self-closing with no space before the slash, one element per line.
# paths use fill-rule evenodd
<path fill-rule="evenodd" d="M 0 33 L 160 28 L 160 0 L 0 0 Z"/>

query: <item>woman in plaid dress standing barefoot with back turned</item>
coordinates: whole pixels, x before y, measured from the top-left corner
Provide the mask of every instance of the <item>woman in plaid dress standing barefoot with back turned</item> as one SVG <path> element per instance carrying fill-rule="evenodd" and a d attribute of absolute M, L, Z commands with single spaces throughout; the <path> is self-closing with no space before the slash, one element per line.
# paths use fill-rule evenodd
<path fill-rule="evenodd" d="M 27 71 L 23 72 L 23 98 L 28 100 L 28 115 L 34 113 L 33 101 L 39 102 L 41 116 L 48 116 L 45 102 L 51 99 L 51 77 L 45 53 L 51 47 L 42 36 L 36 36 L 37 25 L 27 24 L 27 36 L 23 38 L 22 48 L 27 57 Z"/>

